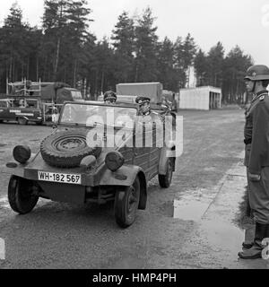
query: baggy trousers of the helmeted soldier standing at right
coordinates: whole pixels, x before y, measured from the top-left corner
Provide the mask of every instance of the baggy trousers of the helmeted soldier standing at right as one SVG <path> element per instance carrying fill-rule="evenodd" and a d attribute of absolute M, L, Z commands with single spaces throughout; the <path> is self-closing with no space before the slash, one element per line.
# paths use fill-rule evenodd
<path fill-rule="evenodd" d="M 255 222 L 269 224 L 269 167 L 262 169 L 259 181 L 247 178 L 247 183 L 249 204 Z"/>

